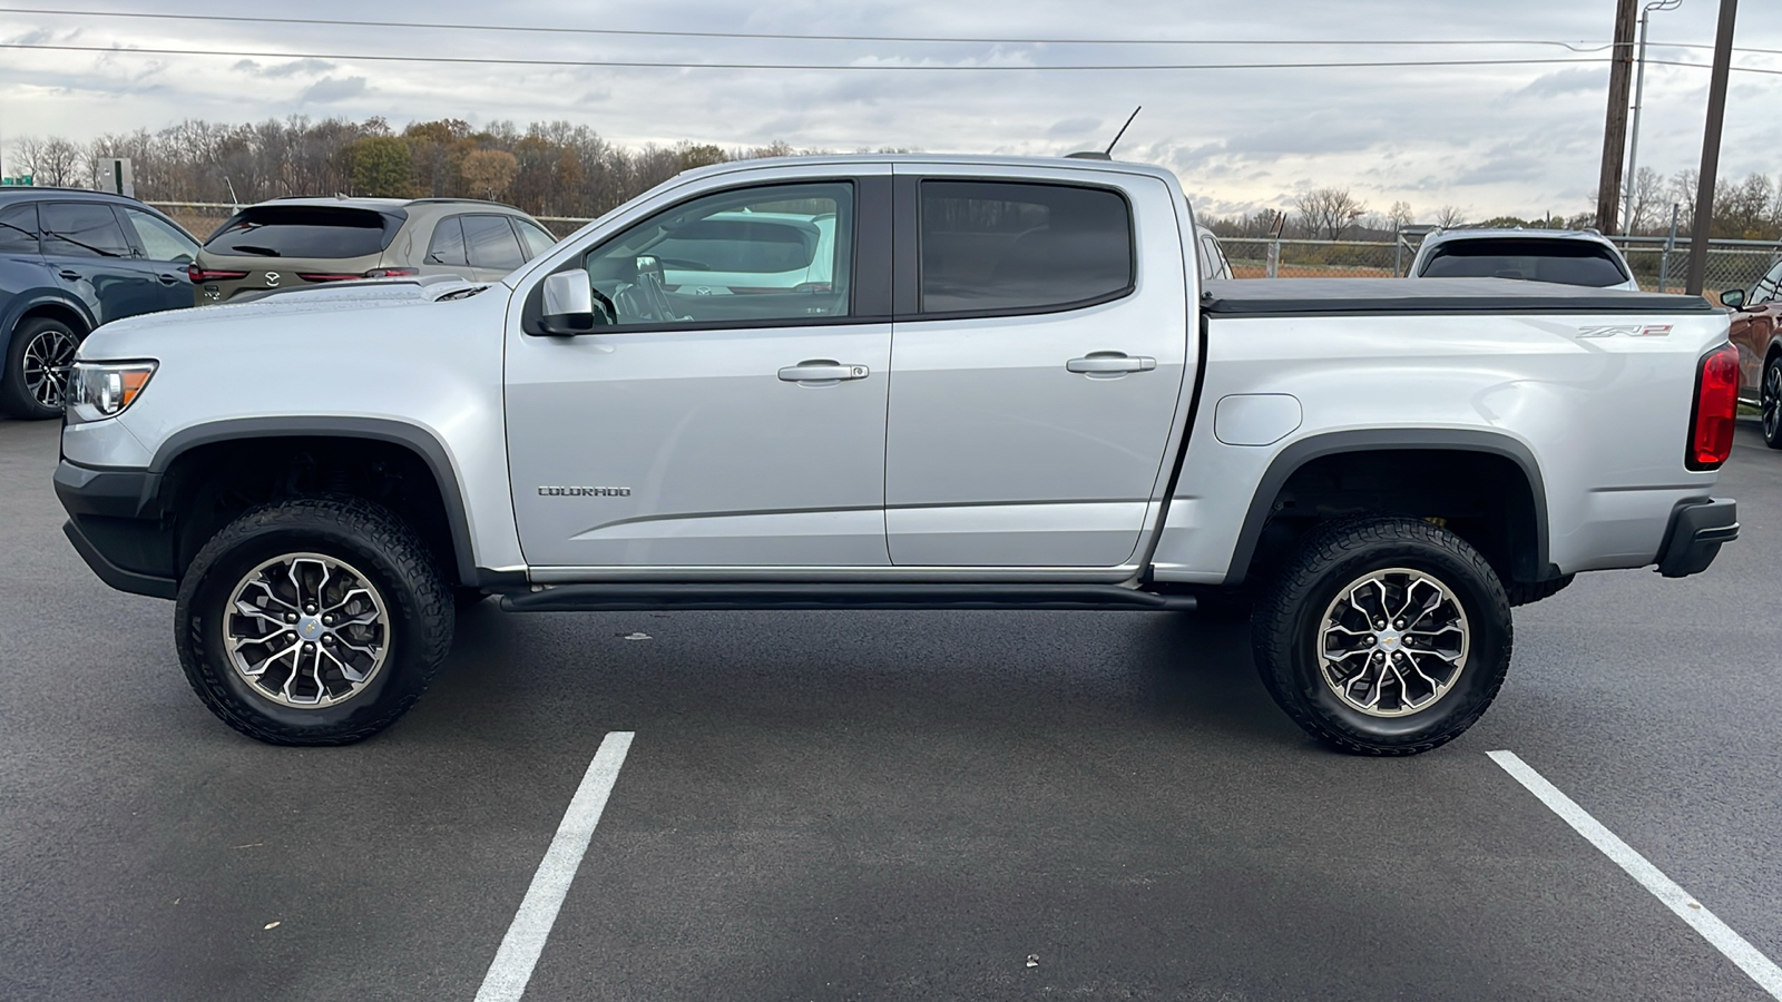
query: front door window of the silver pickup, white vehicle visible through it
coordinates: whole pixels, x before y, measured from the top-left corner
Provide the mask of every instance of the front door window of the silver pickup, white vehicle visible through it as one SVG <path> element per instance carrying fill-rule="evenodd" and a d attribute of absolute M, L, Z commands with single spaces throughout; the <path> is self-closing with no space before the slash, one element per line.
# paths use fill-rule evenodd
<path fill-rule="evenodd" d="M 620 324 L 813 321 L 850 314 L 854 185 L 788 184 L 681 203 L 586 257 Z"/>

